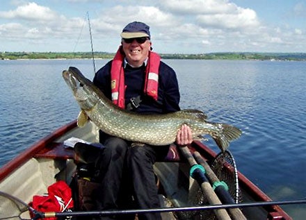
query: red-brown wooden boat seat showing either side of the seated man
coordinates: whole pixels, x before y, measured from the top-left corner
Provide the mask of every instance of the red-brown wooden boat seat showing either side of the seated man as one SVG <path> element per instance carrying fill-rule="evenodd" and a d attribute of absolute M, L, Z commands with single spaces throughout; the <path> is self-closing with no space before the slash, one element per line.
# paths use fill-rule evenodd
<path fill-rule="evenodd" d="M 51 158 L 57 160 L 73 159 L 79 161 L 77 154 L 72 148 L 65 148 L 63 142 L 53 142 L 35 154 L 34 158 Z M 177 146 L 172 144 L 166 158 L 158 162 L 179 162 L 180 156 Z"/>

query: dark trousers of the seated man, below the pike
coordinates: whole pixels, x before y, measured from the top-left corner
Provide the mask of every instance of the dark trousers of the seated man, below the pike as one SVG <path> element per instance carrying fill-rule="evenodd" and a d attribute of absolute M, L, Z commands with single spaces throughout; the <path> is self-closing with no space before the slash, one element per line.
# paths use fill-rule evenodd
<path fill-rule="evenodd" d="M 97 195 L 99 210 L 160 208 L 153 164 L 159 158 L 166 157 L 169 147 L 145 144 L 130 146 L 131 143 L 118 137 L 108 137 L 102 144 L 105 149 L 96 162 L 102 183 Z M 139 214 L 138 219 L 159 220 L 161 214 Z"/>

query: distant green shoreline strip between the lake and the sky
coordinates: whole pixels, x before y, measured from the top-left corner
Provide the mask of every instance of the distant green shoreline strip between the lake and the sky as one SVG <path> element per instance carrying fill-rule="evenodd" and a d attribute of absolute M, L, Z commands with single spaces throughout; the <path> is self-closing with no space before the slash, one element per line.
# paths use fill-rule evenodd
<path fill-rule="evenodd" d="M 112 59 L 115 53 L 95 52 L 97 59 Z M 201 54 L 166 54 L 160 53 L 163 59 L 176 60 L 283 60 L 306 61 L 306 53 L 201 53 Z M 33 60 L 33 59 L 92 59 L 91 52 L 1 52 L 0 60 Z"/>

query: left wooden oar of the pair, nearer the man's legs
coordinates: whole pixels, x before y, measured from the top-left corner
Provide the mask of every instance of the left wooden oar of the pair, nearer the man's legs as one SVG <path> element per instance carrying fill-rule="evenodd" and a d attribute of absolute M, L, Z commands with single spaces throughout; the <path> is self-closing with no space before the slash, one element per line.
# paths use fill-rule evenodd
<path fill-rule="evenodd" d="M 181 146 L 179 147 L 180 151 L 182 152 L 182 155 L 184 155 L 184 158 L 188 161 L 188 163 L 191 166 L 191 177 L 193 177 L 197 182 L 199 183 L 202 192 L 207 196 L 207 200 L 209 201 L 209 204 L 211 205 L 220 205 L 222 204 L 216 193 L 214 192 L 214 189 L 212 189 L 209 181 L 204 175 L 203 167 L 200 166 L 196 161 L 195 158 L 193 158 L 193 155 L 188 149 L 188 146 Z M 217 219 L 223 220 L 223 219 L 231 219 L 230 215 L 227 213 L 226 210 L 220 209 L 220 210 L 214 210 Z"/>

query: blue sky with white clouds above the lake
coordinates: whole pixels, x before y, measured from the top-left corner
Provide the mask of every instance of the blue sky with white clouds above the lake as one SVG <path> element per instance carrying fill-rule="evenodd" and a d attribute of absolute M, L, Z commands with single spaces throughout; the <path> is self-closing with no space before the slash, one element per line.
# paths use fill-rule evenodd
<path fill-rule="evenodd" d="M 0 0 L 0 51 L 113 53 L 134 21 L 157 53 L 306 53 L 306 0 Z"/>

